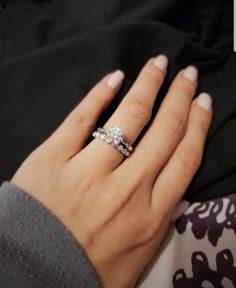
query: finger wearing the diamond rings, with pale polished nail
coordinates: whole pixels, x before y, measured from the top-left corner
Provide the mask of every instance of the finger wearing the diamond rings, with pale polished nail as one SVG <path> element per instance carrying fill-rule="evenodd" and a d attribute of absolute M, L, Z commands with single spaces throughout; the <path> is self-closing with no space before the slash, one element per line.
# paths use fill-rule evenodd
<path fill-rule="evenodd" d="M 125 133 L 125 141 L 134 143 L 150 119 L 167 65 L 168 59 L 164 55 L 151 58 L 146 63 L 126 97 L 105 124 L 105 128 L 118 126 Z M 113 170 L 124 159 L 117 149 L 100 139 L 95 139 L 87 148 L 90 155 L 96 156 L 98 162 L 102 161 L 104 169 Z"/>

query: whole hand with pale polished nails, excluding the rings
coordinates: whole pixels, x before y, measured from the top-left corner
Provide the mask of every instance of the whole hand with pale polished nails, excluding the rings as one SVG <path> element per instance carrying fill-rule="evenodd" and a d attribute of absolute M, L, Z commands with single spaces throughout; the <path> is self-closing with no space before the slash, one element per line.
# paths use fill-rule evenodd
<path fill-rule="evenodd" d="M 105 128 L 132 144 L 148 123 L 167 58 L 150 59 Z M 180 71 L 130 157 L 100 139 L 84 147 L 123 73 L 104 77 L 12 179 L 73 234 L 103 287 L 133 287 L 158 250 L 198 170 L 212 118 L 207 94 L 193 100 L 197 70 Z"/>

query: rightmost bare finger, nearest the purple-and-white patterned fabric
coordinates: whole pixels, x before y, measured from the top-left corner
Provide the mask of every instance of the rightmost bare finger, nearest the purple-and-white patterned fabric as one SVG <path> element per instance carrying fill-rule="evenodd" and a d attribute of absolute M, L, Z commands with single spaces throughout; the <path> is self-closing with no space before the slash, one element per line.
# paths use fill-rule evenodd
<path fill-rule="evenodd" d="M 193 101 L 186 135 L 154 184 L 151 197 L 154 207 L 164 205 L 173 211 L 199 169 L 212 119 L 211 103 L 206 93 Z"/>

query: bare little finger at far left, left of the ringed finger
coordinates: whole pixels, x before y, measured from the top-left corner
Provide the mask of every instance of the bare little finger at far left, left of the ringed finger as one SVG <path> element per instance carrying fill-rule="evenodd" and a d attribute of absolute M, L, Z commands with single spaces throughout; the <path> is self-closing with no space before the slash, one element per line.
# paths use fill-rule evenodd
<path fill-rule="evenodd" d="M 122 71 L 106 75 L 69 114 L 61 126 L 48 139 L 53 153 L 63 159 L 77 154 L 92 133 L 96 122 L 110 104 L 124 79 Z"/>

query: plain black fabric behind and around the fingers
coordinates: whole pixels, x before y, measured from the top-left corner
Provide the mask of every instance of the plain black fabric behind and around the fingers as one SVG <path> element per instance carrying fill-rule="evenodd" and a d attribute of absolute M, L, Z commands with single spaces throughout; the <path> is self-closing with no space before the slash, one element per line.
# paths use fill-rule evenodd
<path fill-rule="evenodd" d="M 235 192 L 233 0 L 5 2 L 0 12 L 0 182 L 13 176 L 106 73 L 122 69 L 126 80 L 98 125 L 147 59 L 165 53 L 169 72 L 154 114 L 177 71 L 189 64 L 200 70 L 198 92 L 210 93 L 214 101 L 203 164 L 185 197 L 198 201 Z"/>

